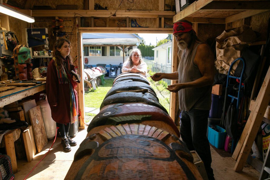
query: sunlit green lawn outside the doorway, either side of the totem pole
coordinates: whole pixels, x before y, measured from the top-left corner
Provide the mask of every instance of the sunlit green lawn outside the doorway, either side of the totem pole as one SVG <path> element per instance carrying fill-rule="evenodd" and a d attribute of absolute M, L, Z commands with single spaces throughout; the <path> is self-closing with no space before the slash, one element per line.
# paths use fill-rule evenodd
<path fill-rule="evenodd" d="M 152 74 L 151 72 L 149 73 Z M 166 89 L 167 83 L 164 81 L 154 82 L 151 80 L 150 75 L 148 75 L 147 79 L 150 82 L 150 86 L 155 90 L 159 102 L 162 106 L 166 108 L 169 112 L 170 109 L 170 92 Z M 113 85 L 113 78 L 105 79 L 104 85 L 100 85 L 94 91 L 86 91 L 85 92 L 85 107 L 93 107 L 99 109 L 104 97 L 106 96 L 107 92 L 112 88 Z M 89 124 L 89 121 L 95 117 L 96 114 L 93 113 L 85 113 L 85 122 Z"/>

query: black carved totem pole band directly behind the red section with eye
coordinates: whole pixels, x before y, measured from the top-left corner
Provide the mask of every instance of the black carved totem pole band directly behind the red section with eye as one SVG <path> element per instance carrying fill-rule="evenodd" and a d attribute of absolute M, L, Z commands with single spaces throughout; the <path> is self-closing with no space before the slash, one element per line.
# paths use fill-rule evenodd
<path fill-rule="evenodd" d="M 131 92 L 124 92 L 124 93 L 117 93 L 109 96 L 103 100 L 100 105 L 100 109 L 104 106 L 114 103 L 144 103 L 152 106 L 156 106 L 166 113 L 167 110 L 158 102 L 157 98 L 150 93 L 131 93 Z"/>

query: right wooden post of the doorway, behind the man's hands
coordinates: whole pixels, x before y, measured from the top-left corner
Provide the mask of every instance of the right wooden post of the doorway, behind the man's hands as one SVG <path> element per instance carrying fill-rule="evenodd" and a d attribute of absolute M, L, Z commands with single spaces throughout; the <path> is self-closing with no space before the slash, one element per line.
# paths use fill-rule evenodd
<path fill-rule="evenodd" d="M 178 47 L 177 47 L 177 41 L 176 39 L 173 37 L 173 43 L 172 43 L 173 47 L 172 47 L 172 62 L 171 62 L 171 72 L 176 72 L 177 71 L 177 53 L 178 53 Z M 176 80 L 171 80 L 171 84 L 175 84 Z M 171 116 L 171 118 L 173 119 L 173 121 L 175 120 L 175 114 L 176 114 L 176 93 L 170 93 L 170 111 L 169 114 Z"/>

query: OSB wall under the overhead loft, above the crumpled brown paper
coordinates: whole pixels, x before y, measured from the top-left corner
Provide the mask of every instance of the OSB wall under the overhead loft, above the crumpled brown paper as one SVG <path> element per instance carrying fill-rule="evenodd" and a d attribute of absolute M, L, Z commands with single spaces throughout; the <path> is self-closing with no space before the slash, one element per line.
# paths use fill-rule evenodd
<path fill-rule="evenodd" d="M 261 33 L 259 40 L 266 40 L 268 19 L 270 18 L 270 12 L 264 12 L 250 18 L 250 26 L 254 31 Z M 232 22 L 232 28 L 237 28 L 244 25 L 244 19 Z"/>

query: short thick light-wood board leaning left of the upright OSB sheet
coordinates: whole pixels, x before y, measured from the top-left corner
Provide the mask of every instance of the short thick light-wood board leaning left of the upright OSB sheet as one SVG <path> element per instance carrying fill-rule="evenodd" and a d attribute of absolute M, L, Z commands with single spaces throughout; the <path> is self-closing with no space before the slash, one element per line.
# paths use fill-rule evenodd
<path fill-rule="evenodd" d="M 27 161 L 31 162 L 34 155 L 36 154 L 36 144 L 34 140 L 34 134 L 32 130 L 32 126 L 28 126 L 25 131 L 22 133 L 24 146 L 25 146 L 25 152 Z"/>

